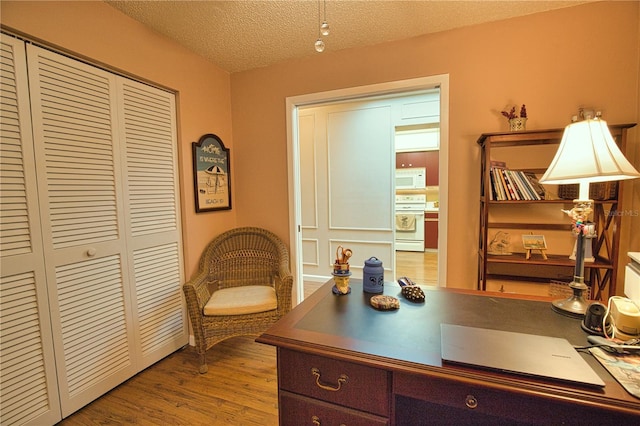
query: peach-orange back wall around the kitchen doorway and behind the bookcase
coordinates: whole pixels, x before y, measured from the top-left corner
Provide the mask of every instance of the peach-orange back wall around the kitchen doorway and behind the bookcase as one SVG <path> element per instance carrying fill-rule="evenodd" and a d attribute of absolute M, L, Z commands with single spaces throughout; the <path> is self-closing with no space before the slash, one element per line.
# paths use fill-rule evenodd
<path fill-rule="evenodd" d="M 530 130 L 563 127 L 579 106 L 601 109 L 610 123 L 638 122 L 639 6 L 574 6 L 232 74 L 233 133 L 242 159 L 236 166 L 239 224 L 288 235 L 286 97 L 448 73 L 449 182 L 456 185 L 448 194 L 447 285 L 474 287 L 478 136 L 507 130 L 499 111 L 522 103 Z M 309 49 L 313 40 L 310 33 Z M 634 129 L 629 152 L 637 150 L 637 135 Z M 623 207 L 630 209 L 627 194 Z M 637 211 L 637 191 L 635 198 Z M 623 221 L 626 235 L 631 220 L 638 219 Z M 629 238 L 623 242 L 625 253 Z"/>

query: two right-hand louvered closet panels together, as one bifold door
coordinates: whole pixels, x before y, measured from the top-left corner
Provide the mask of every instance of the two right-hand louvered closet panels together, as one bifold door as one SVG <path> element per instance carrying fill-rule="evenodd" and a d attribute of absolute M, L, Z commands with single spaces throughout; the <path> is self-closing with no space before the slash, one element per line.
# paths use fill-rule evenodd
<path fill-rule="evenodd" d="M 173 94 L 28 48 L 63 417 L 187 343 Z"/>

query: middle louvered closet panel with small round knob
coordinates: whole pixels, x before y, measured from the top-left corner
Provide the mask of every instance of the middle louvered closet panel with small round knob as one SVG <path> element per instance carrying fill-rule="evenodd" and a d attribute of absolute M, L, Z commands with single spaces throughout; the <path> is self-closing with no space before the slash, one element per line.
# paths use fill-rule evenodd
<path fill-rule="evenodd" d="M 27 46 L 62 416 L 136 373 L 116 76 Z"/>

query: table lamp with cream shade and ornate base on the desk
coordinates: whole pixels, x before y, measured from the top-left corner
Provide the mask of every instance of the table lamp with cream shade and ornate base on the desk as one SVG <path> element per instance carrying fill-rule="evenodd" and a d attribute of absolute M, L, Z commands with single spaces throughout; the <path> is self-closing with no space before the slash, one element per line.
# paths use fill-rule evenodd
<path fill-rule="evenodd" d="M 587 290 L 584 283 L 586 223 L 593 205 L 593 200 L 589 199 L 589 184 L 638 177 L 640 173 L 616 145 L 606 121 L 588 117 L 565 127 L 560 147 L 540 179 L 540 183 L 580 185 L 578 198 L 573 200 L 575 206 L 567 212 L 573 219 L 573 232 L 577 238 L 575 272 L 569 284 L 573 294 L 568 299 L 552 302 L 556 312 L 582 317 L 587 310 L 588 303 L 582 293 Z"/>

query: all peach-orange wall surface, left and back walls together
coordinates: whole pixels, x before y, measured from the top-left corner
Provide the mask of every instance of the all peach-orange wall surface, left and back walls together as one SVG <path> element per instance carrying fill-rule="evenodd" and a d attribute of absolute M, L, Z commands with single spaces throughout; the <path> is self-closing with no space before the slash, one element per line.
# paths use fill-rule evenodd
<path fill-rule="evenodd" d="M 1 12 L 6 28 L 178 93 L 187 276 L 206 242 L 236 224 L 265 226 L 288 238 L 287 96 L 450 75 L 449 180 L 455 177 L 456 186 L 449 193 L 452 266 L 447 285 L 455 287 L 475 283 L 476 139 L 507 129 L 501 109 L 526 103 L 529 129 L 562 127 L 581 105 L 601 109 L 611 123 L 640 120 L 640 10 L 635 1 L 581 5 L 376 47 L 326 51 L 231 77 L 102 2 L 2 1 Z M 312 42 L 310 35 L 310 49 Z M 231 148 L 233 210 L 196 215 L 191 142 L 210 132 Z M 629 147 L 636 167 L 638 133 L 631 132 Z M 633 189 L 625 195 L 628 211 L 640 211 L 639 185 L 625 186 Z M 623 219 L 622 253 L 640 250 L 639 223 L 633 214 Z"/>

